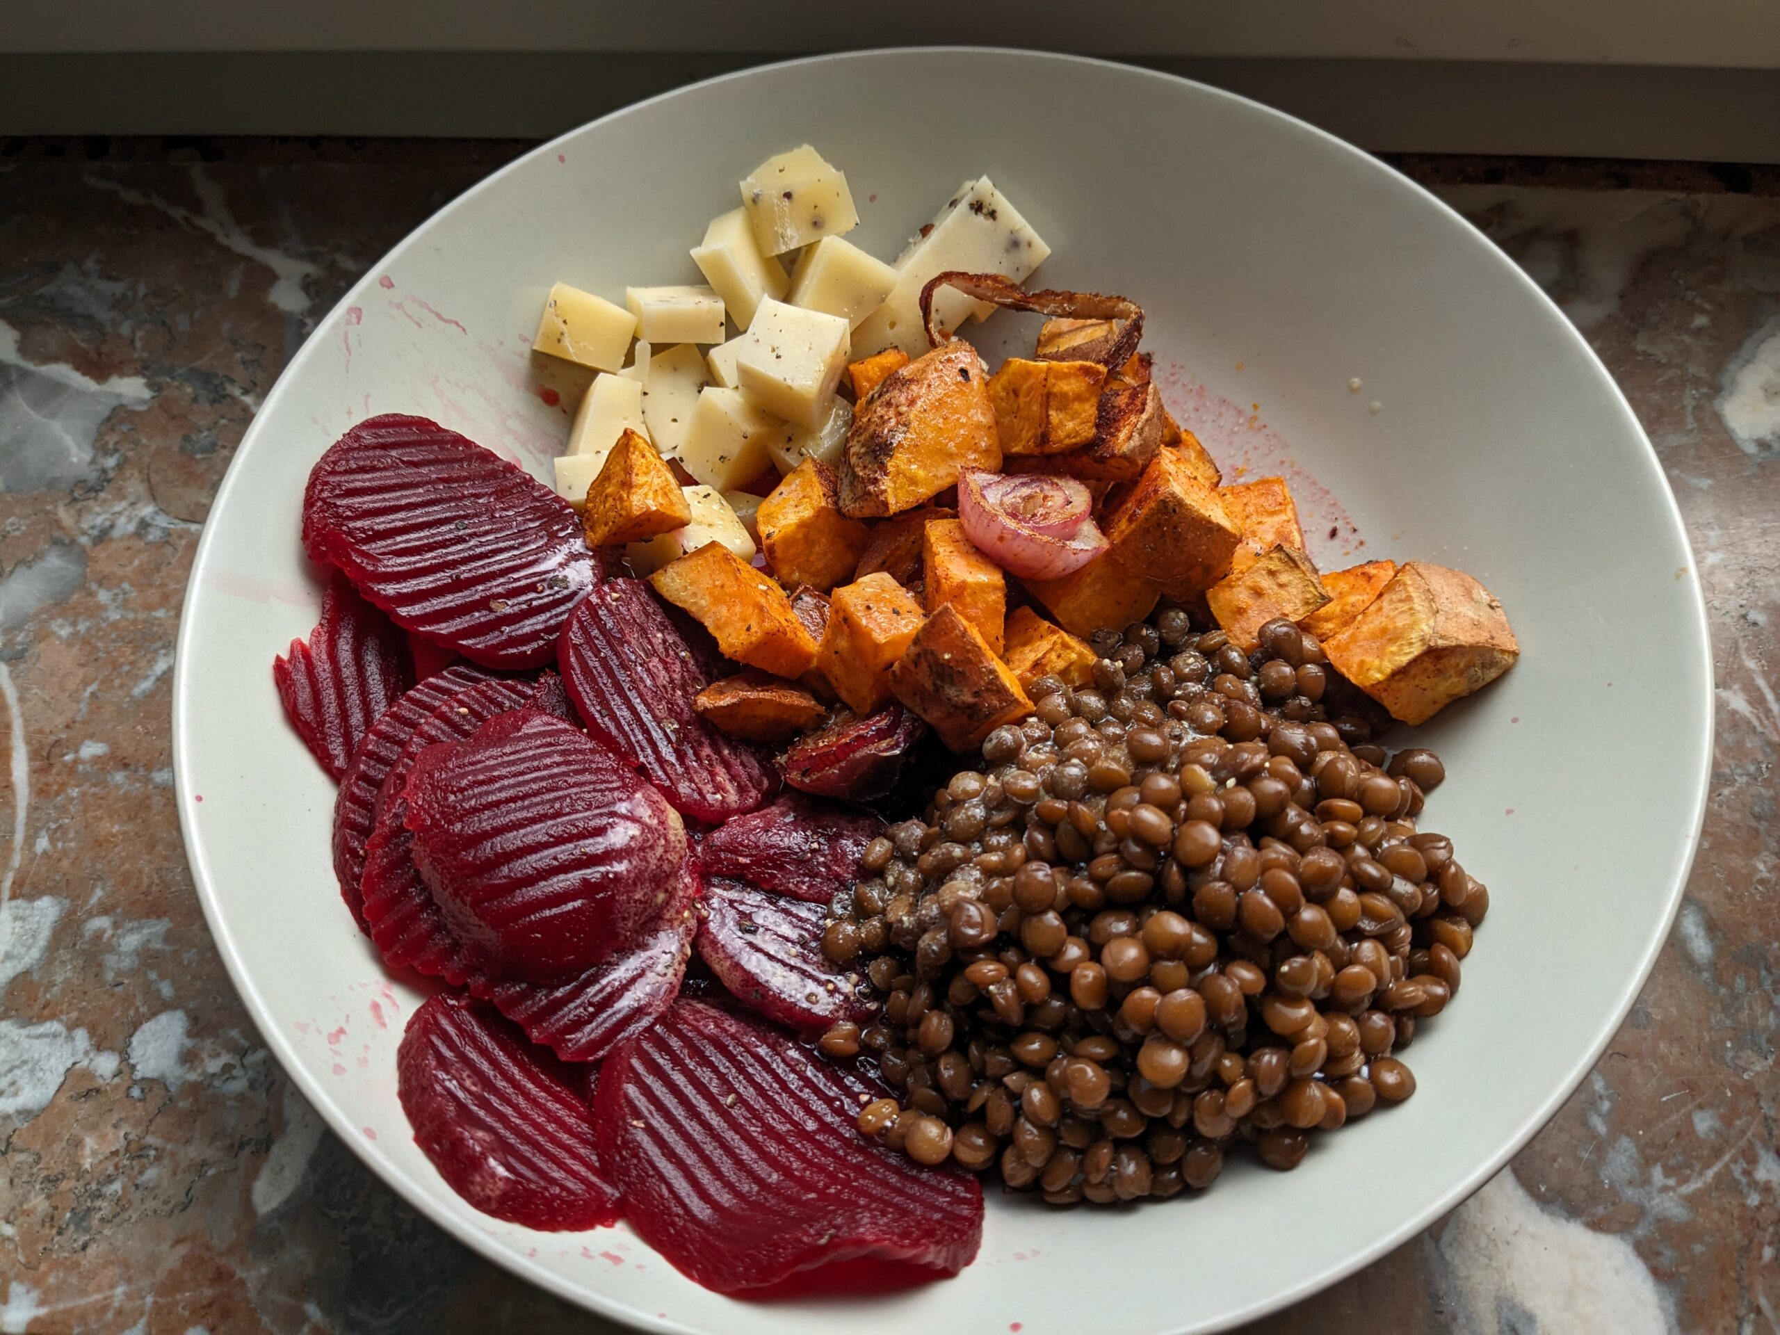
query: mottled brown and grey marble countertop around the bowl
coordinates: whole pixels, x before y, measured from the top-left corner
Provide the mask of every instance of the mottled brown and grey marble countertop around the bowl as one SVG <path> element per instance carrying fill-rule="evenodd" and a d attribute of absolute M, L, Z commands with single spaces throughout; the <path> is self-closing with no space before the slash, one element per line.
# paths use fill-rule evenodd
<path fill-rule="evenodd" d="M 322 1130 L 205 931 L 173 643 L 312 324 L 507 142 L 0 141 L 0 1331 L 595 1331 Z M 1415 158 L 1625 388 L 1718 746 L 1673 938 L 1513 1166 L 1269 1335 L 1780 1331 L 1780 173 Z M 1661 764 L 1661 756 L 1652 756 Z"/>

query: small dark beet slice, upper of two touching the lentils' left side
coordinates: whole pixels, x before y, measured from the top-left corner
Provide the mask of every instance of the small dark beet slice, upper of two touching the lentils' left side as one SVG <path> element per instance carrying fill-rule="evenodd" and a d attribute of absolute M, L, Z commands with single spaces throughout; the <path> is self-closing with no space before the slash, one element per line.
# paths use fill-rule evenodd
<path fill-rule="evenodd" d="M 870 812 L 787 792 L 712 829 L 700 846 L 700 860 L 712 876 L 826 904 L 858 879 L 865 846 L 883 828 Z"/>

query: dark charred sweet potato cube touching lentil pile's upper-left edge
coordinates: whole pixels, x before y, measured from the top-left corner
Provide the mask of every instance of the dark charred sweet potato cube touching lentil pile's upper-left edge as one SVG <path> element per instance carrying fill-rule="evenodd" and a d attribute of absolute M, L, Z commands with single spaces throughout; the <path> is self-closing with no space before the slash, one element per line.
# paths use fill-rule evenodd
<path fill-rule="evenodd" d="M 954 751 L 974 751 L 995 728 L 1032 712 L 1020 678 L 952 605 L 920 623 L 890 669 L 890 689 Z"/>

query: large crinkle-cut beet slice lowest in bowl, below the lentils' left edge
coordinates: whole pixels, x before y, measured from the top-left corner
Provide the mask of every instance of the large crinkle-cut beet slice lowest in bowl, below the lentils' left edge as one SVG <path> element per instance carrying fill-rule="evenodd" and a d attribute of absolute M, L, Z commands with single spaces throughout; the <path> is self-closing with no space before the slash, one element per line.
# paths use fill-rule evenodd
<path fill-rule="evenodd" d="M 983 1241 L 983 1191 L 863 1139 L 858 1111 L 881 1095 L 771 1025 L 682 999 L 600 1068 L 600 1162 L 637 1235 L 717 1292 L 849 1260 L 956 1274 Z"/>

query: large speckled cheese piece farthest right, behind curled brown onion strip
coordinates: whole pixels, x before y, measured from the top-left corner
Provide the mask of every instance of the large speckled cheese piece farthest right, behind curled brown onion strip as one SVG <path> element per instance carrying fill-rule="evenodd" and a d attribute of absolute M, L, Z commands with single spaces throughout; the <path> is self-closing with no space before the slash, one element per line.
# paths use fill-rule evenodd
<path fill-rule="evenodd" d="M 1024 283 L 1050 255 L 1045 239 L 1020 217 L 988 176 L 965 182 L 926 235 L 908 244 L 895 262 L 897 283 L 870 317 L 867 317 L 853 344 L 862 354 L 881 352 L 890 345 L 910 356 L 927 351 L 927 336 L 920 329 L 920 290 L 949 269 L 972 274 L 1006 274 Z M 933 294 L 934 322 L 956 333 L 965 319 L 988 319 L 995 308 L 986 301 L 972 301 L 956 288 Z"/>

